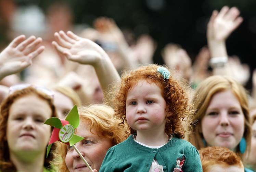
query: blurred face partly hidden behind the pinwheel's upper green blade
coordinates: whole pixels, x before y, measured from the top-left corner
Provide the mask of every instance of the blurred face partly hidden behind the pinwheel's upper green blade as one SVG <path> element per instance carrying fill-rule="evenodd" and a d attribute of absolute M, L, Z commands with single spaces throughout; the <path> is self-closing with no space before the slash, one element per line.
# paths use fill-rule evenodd
<path fill-rule="evenodd" d="M 61 119 L 65 119 L 68 112 L 74 106 L 73 101 L 69 97 L 57 91 L 54 91 L 53 103 L 55 105 L 57 115 Z"/>

